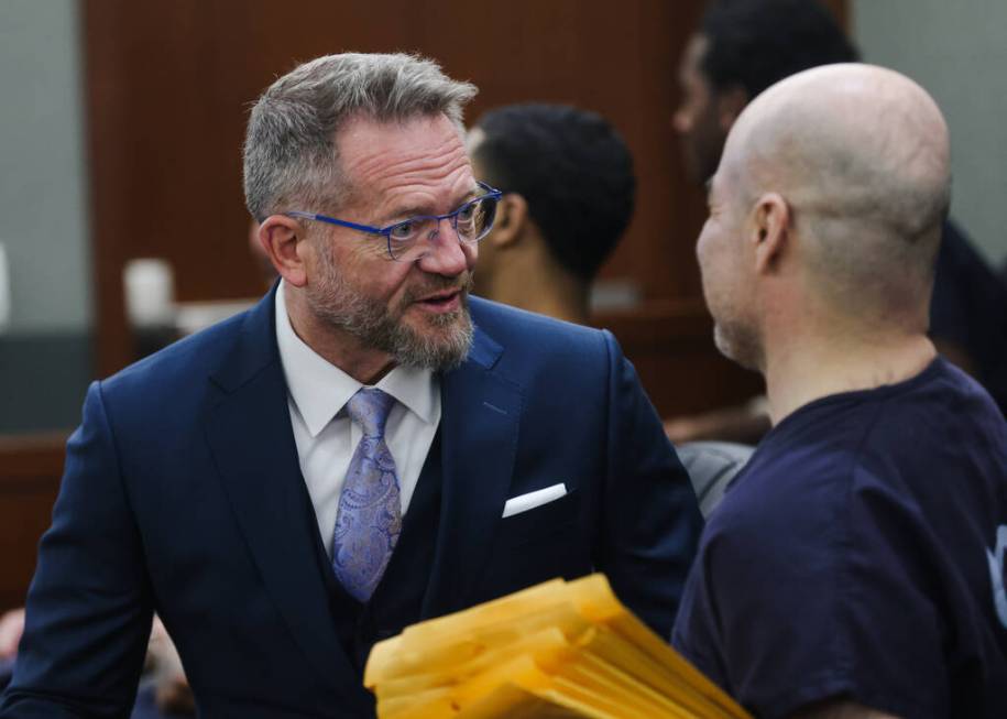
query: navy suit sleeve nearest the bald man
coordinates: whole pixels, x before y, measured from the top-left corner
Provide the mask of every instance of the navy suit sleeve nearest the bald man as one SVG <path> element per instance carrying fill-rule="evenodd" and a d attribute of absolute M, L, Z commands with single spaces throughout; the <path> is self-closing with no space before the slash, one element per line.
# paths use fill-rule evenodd
<path fill-rule="evenodd" d="M 609 453 L 598 564 L 623 603 L 668 639 L 702 516 L 636 371 L 608 331 L 605 342 Z"/>

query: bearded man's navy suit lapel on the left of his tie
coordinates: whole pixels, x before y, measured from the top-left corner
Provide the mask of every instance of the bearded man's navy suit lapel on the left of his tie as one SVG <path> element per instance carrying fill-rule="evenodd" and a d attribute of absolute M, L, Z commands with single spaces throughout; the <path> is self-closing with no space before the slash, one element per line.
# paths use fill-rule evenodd
<path fill-rule="evenodd" d="M 316 554 L 318 530 L 300 473 L 276 349 L 273 294 L 247 316 L 211 381 L 222 391 L 207 438 L 262 580 L 295 641 L 326 682 L 352 677 Z"/>

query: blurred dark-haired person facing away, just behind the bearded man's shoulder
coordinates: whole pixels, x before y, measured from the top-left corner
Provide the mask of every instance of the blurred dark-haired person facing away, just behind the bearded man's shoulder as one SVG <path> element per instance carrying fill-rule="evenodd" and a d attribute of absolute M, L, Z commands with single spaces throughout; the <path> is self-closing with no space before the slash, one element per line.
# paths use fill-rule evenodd
<path fill-rule="evenodd" d="M 469 133 L 475 174 L 504 192 L 475 293 L 588 324 L 591 283 L 633 215 L 633 159 L 594 112 L 512 105 Z"/>

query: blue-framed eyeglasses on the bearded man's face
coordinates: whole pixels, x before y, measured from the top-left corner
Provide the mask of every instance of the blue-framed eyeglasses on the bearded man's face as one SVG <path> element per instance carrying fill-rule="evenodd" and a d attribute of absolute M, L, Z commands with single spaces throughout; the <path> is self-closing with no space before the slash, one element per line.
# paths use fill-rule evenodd
<path fill-rule="evenodd" d="M 493 229 L 493 220 L 496 218 L 496 204 L 500 201 L 502 193 L 485 183 L 475 184 L 485 192 L 485 195 L 470 199 L 453 213 L 448 213 L 447 215 L 417 215 L 387 227 L 359 225 L 358 222 L 348 222 L 347 220 L 339 220 L 335 217 L 315 213 L 289 211 L 285 213 L 285 215 L 287 217 L 348 227 L 351 230 L 359 230 L 371 236 L 381 235 L 387 242 L 388 257 L 398 262 L 415 262 L 429 252 L 429 240 L 440 231 L 441 220 L 450 220 L 459 242 L 466 244 L 475 244 L 490 233 L 490 230 Z"/>

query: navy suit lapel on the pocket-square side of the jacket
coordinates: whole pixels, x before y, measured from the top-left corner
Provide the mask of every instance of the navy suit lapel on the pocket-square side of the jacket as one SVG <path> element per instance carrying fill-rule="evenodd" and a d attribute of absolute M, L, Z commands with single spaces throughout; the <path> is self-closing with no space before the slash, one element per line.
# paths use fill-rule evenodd
<path fill-rule="evenodd" d="M 424 618 L 469 604 L 507 499 L 523 397 L 493 371 L 502 351 L 477 329 L 469 359 L 441 379 L 444 493 Z"/>

